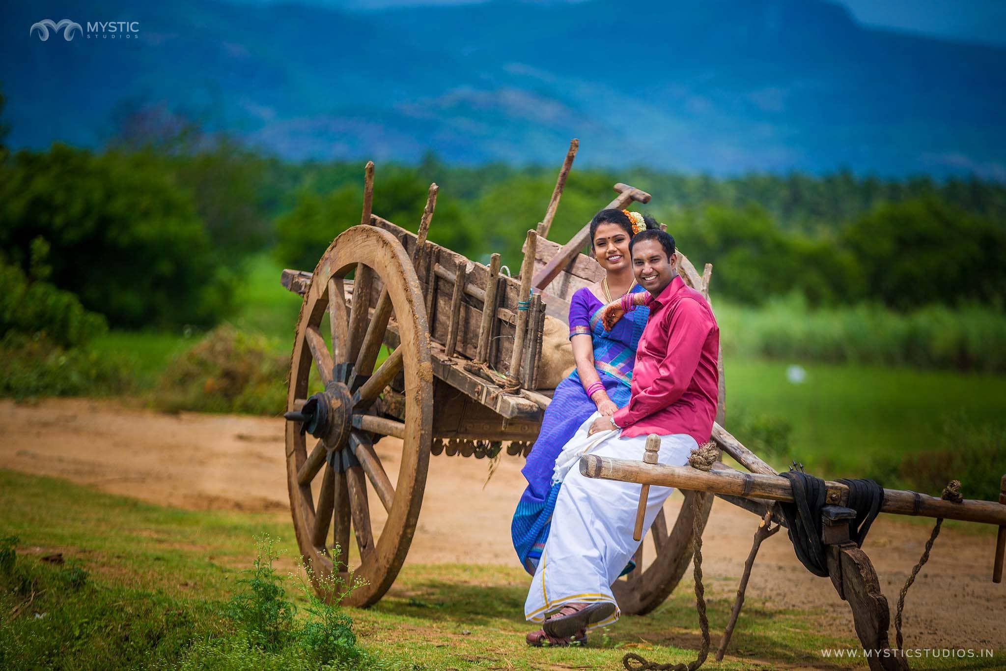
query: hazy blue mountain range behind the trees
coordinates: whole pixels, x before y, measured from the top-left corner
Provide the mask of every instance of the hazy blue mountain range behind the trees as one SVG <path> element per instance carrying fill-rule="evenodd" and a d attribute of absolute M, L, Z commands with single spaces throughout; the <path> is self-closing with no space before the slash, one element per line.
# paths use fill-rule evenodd
<path fill-rule="evenodd" d="M 138 21 L 139 37 L 43 18 Z M 180 0 L 8 5 L 12 147 L 98 146 L 147 106 L 282 156 L 561 159 L 1006 181 L 1006 48 L 873 30 L 822 0 L 368 12 Z"/>

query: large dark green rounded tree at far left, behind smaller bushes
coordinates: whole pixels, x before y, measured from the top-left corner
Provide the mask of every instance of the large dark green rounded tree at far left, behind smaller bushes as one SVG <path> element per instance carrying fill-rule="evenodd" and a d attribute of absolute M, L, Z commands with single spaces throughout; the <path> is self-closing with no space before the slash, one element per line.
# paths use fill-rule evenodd
<path fill-rule="evenodd" d="M 168 172 L 146 154 L 18 152 L 0 180 L 0 248 L 27 270 L 44 240 L 48 281 L 113 326 L 213 324 L 233 275 Z"/>

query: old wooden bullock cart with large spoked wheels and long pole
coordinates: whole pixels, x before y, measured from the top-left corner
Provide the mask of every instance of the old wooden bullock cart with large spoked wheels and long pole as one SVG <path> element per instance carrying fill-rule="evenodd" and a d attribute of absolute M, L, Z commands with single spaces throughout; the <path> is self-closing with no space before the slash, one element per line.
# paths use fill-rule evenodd
<path fill-rule="evenodd" d="M 518 278 L 501 275 L 499 255 L 484 266 L 427 239 L 436 184 L 417 233 L 372 214 L 373 164 L 367 164 L 360 224 L 332 241 L 313 273 L 284 271 L 284 286 L 303 296 L 286 413 L 291 512 L 301 553 L 315 577 L 338 571 L 347 580 L 362 578 L 348 605 L 372 605 L 394 581 L 415 531 L 431 455 L 496 458 L 508 443 L 508 454 L 526 456 L 537 436 L 552 391 L 539 388 L 542 367 L 554 363 L 542 352 L 546 317 L 565 323 L 572 294 L 603 277 L 601 267 L 580 254 L 589 241 L 586 225 L 563 245 L 547 239 L 574 153 L 575 141 L 544 221 L 528 231 Z M 625 184 L 615 190 L 618 195 L 607 207 L 650 200 L 648 193 Z M 699 275 L 680 251 L 677 257 L 685 283 L 708 297 L 711 267 Z M 390 353 L 376 365 L 382 347 Z M 774 502 L 792 500 L 787 482 L 723 429 L 721 355 L 719 368 L 712 438 L 749 473 L 721 463 L 703 474 L 689 467 L 581 460 L 580 470 L 590 477 L 674 486 L 685 498 L 673 519 L 666 511 L 657 516 L 650 531 L 653 560 L 613 585 L 624 613 L 649 613 L 677 585 L 692 557 L 693 532 L 701 533 L 712 506 L 712 496 L 704 493 L 766 522 L 785 523 Z M 401 442 L 395 482 L 374 450 L 384 437 Z M 368 483 L 377 501 L 368 494 Z M 841 507 L 847 489 L 827 485 L 828 503 Z M 999 581 L 1006 477 L 1003 489 L 999 503 L 951 503 L 887 490 L 883 511 L 1000 525 Z M 830 527 L 822 534 L 831 549 L 832 580 L 853 607 L 860 640 L 887 648 L 886 601 L 869 559 L 849 543 L 847 513 L 832 511 L 824 523 Z M 358 548 L 353 560 L 350 535 Z M 641 544 L 636 557 L 641 567 L 642 551 Z M 893 660 L 871 659 L 870 666 L 905 668 L 902 658 Z"/>

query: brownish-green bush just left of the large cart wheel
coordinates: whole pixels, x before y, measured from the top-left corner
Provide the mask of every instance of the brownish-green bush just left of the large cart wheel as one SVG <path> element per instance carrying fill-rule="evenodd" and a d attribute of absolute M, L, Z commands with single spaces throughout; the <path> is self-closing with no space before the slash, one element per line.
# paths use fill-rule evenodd
<path fill-rule="evenodd" d="M 264 336 L 224 324 L 171 362 L 153 403 L 168 411 L 278 414 L 287 403 L 289 363 Z"/>

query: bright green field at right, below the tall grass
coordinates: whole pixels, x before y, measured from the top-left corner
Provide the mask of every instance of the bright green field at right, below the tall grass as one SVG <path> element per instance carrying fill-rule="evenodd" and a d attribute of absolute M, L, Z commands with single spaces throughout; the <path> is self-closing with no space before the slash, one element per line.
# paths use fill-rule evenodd
<path fill-rule="evenodd" d="M 805 381 L 793 384 L 788 365 L 726 360 L 726 427 L 738 408 L 785 417 L 793 426 L 794 458 L 829 477 L 863 475 L 880 454 L 936 449 L 944 424 L 961 413 L 982 423 L 1000 420 L 1006 409 L 1003 376 L 805 363 Z"/>

